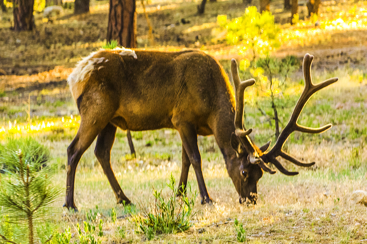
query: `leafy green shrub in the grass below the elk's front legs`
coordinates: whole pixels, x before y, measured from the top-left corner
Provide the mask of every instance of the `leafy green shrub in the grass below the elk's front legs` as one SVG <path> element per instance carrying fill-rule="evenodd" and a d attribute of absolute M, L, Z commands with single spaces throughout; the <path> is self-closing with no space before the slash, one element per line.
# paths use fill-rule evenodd
<path fill-rule="evenodd" d="M 160 191 L 153 189 L 155 201 L 151 204 L 150 210 L 145 208 L 142 215 L 133 216 L 135 225 L 148 240 L 153 239 L 156 234 L 183 232 L 191 226 L 190 218 L 193 215 L 196 193 L 194 198 L 182 196 L 181 201 L 177 201 L 178 190 L 175 189 L 175 179 L 172 174 L 167 186 L 172 190 L 168 198 L 163 196 L 162 189 Z"/>

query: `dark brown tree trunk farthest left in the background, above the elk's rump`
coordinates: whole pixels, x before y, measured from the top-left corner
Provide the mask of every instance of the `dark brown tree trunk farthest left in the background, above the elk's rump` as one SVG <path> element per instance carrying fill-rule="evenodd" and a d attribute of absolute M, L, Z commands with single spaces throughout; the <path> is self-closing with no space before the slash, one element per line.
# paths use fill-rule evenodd
<path fill-rule="evenodd" d="M 33 30 L 33 5 L 34 0 L 13 1 L 14 30 Z"/>

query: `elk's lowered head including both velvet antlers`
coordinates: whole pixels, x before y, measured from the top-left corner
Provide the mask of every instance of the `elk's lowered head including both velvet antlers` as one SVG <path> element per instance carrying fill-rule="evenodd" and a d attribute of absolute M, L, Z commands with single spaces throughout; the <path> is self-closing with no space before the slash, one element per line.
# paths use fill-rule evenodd
<path fill-rule="evenodd" d="M 267 151 L 271 140 L 262 147 L 257 147 L 249 138 L 248 135 L 252 129 L 245 129 L 243 127 L 243 112 L 244 112 L 244 90 L 246 87 L 254 85 L 255 80 L 249 79 L 241 82 L 237 70 L 237 63 L 235 59 L 231 62 L 232 79 L 235 84 L 236 95 L 236 112 L 235 112 L 235 132 L 231 136 L 231 145 L 236 151 L 237 158 L 233 160 L 233 164 L 229 174 L 235 184 L 236 190 L 240 196 L 240 203 L 256 203 L 257 199 L 257 181 L 262 177 L 263 171 L 270 174 L 276 173 L 268 167 L 268 163 L 272 163 L 281 173 L 293 176 L 298 172 L 290 172 L 285 169 L 276 159 L 278 156 L 294 163 L 298 166 L 309 167 L 315 164 L 304 163 L 292 157 L 282 150 L 284 143 L 288 136 L 294 131 L 306 133 L 321 133 L 331 128 L 331 124 L 327 124 L 320 128 L 309 128 L 299 125 L 297 123 L 298 117 L 302 112 L 306 102 L 318 90 L 336 82 L 338 78 L 331 78 L 321 82 L 317 85 L 312 83 L 311 79 L 311 64 L 313 56 L 308 53 L 303 60 L 303 74 L 305 79 L 305 88 L 299 97 L 298 102 L 293 110 L 291 118 L 279 135 L 275 145 L 271 150 Z"/>

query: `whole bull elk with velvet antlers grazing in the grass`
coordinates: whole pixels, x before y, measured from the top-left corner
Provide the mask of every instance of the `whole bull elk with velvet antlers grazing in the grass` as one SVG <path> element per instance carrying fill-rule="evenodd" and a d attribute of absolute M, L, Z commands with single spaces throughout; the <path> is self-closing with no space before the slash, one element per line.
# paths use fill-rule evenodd
<path fill-rule="evenodd" d="M 159 52 L 117 48 L 91 53 L 76 65 L 68 78 L 81 122 L 75 139 L 68 147 L 64 206 L 77 210 L 74 203 L 76 167 L 81 155 L 96 137 L 94 153 L 115 193 L 117 203 L 130 203 L 110 164 L 117 127 L 131 131 L 176 129 L 182 140 L 179 192 L 184 194 L 192 165 L 201 203 L 212 202 L 212 199 L 201 171 L 197 135 L 214 135 L 240 203 L 246 199 L 256 203 L 257 181 L 264 171 L 275 173 L 267 163 L 272 163 L 286 175 L 298 174 L 283 168 L 277 156 L 299 166 L 315 164 L 300 162 L 282 151 L 291 132 L 321 133 L 331 127 L 328 124 L 313 129 L 297 124 L 299 114 L 312 94 L 338 80 L 331 78 L 313 85 L 310 74 L 312 60 L 313 56 L 305 55 L 305 90 L 276 144 L 267 151 L 270 142 L 258 148 L 248 136 L 252 129 L 243 128 L 244 89 L 253 85 L 255 80 L 240 81 L 236 60 L 232 59 L 231 63 L 235 96 L 221 65 L 200 51 Z"/>

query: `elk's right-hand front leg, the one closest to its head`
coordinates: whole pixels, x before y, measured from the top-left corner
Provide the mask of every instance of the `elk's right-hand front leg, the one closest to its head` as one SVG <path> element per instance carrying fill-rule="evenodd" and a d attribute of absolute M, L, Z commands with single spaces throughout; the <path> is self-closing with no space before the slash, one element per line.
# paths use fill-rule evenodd
<path fill-rule="evenodd" d="M 184 124 L 184 125 L 181 124 L 181 126 L 179 126 L 178 128 L 179 128 L 178 132 L 182 140 L 182 147 L 185 149 L 187 156 L 189 158 L 189 161 L 195 170 L 196 180 L 197 180 L 197 184 L 199 185 L 199 192 L 201 196 L 201 204 L 211 203 L 213 200 L 210 198 L 208 194 L 208 191 L 207 191 L 207 188 L 204 182 L 203 172 L 201 171 L 201 156 L 199 152 L 199 147 L 197 146 L 196 129 L 193 125 L 190 125 L 190 124 Z M 185 153 L 185 151 L 182 150 L 182 153 Z M 183 172 L 183 173 L 185 173 L 186 180 L 187 180 L 187 173 L 186 172 Z"/>

